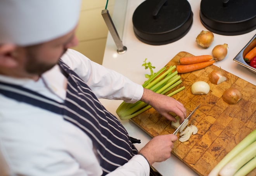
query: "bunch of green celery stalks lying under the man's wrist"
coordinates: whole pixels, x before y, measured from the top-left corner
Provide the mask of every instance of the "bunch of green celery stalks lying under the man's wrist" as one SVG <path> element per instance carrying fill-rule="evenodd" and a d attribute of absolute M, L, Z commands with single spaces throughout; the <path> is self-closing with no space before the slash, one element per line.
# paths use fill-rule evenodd
<path fill-rule="evenodd" d="M 169 68 L 165 66 L 161 68 L 157 73 L 154 73 L 153 75 L 151 73 L 149 79 L 145 81 L 144 84 L 142 84 L 142 86 L 156 93 L 166 94 L 168 91 L 182 83 L 182 80 L 178 75 L 178 72 L 173 71 L 175 68 L 175 65 Z M 183 89 L 185 89 L 185 87 L 182 87 L 173 92 L 178 93 Z M 168 94 L 167 96 L 172 96 L 172 93 Z M 151 106 L 142 101 L 137 101 L 136 103 L 122 102 L 116 109 L 116 113 L 118 114 L 121 120 L 126 120 L 137 116 L 138 114 L 146 111 L 149 108 L 151 108 Z"/>

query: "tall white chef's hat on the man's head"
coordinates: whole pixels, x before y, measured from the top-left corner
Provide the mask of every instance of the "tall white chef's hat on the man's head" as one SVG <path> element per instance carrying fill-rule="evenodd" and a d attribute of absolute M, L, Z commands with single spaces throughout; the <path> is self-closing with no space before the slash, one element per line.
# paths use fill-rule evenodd
<path fill-rule="evenodd" d="M 0 0 L 0 44 L 39 44 L 78 23 L 81 0 Z"/>

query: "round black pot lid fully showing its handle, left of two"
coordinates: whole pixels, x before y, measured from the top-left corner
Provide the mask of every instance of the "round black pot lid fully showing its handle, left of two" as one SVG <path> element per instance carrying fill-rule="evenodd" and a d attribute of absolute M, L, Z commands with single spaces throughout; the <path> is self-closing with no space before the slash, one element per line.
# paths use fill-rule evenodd
<path fill-rule="evenodd" d="M 146 0 L 133 13 L 132 22 L 140 41 L 168 44 L 189 32 L 193 13 L 187 0 Z"/>

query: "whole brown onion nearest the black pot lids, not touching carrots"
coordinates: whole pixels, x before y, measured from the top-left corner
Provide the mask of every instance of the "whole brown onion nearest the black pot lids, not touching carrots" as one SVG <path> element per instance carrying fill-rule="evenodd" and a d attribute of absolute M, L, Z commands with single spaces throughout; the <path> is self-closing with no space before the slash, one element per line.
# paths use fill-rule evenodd
<path fill-rule="evenodd" d="M 195 39 L 195 42 L 203 48 L 208 48 L 211 45 L 211 43 L 213 43 L 213 40 L 214 36 L 212 32 L 201 31 L 200 34 L 198 34 L 197 38 Z"/>

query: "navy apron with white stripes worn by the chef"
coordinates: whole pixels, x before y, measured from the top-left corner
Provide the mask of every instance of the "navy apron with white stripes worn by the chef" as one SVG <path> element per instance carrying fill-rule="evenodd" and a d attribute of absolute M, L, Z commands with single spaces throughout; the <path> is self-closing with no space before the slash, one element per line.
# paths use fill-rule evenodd
<path fill-rule="evenodd" d="M 67 73 L 67 94 L 64 103 L 25 89 L 0 82 L 0 93 L 57 114 L 85 132 L 93 141 L 103 175 L 125 164 L 137 149 L 120 121 L 99 102 L 95 94 L 65 63 L 59 65 Z M 87 152 L 87 151 L 85 151 Z"/>

